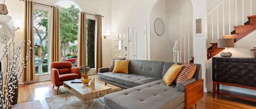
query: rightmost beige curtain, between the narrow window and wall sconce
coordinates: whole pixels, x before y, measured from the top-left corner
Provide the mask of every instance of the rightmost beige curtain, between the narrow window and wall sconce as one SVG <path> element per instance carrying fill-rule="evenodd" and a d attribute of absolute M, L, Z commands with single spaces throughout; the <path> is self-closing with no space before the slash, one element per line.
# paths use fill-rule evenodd
<path fill-rule="evenodd" d="M 97 47 L 96 47 L 96 72 L 102 67 L 102 15 L 96 15 L 97 22 Z"/>

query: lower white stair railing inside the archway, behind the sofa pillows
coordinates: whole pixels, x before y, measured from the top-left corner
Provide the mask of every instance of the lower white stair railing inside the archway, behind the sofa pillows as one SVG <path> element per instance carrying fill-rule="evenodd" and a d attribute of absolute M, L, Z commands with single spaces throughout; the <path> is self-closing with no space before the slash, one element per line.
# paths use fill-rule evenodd
<path fill-rule="evenodd" d="M 191 28 L 180 39 L 175 41 L 174 48 L 172 49 L 174 52 L 174 62 L 189 62 L 190 56 L 193 56 L 193 46 L 193 28 Z"/>

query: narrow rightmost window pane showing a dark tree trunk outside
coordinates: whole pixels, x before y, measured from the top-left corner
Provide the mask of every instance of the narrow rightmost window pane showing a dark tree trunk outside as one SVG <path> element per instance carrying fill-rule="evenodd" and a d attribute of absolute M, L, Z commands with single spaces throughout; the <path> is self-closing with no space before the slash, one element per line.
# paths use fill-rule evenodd
<path fill-rule="evenodd" d="M 86 63 L 95 68 L 95 20 L 86 18 Z"/>

